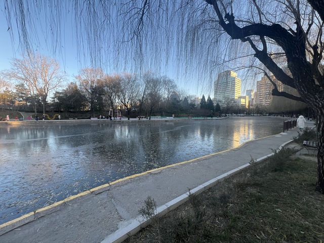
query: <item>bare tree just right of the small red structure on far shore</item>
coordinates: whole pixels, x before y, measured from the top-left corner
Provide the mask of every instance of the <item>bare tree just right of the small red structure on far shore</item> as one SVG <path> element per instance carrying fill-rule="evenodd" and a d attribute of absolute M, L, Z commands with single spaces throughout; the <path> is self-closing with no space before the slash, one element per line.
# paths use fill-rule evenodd
<path fill-rule="evenodd" d="M 123 73 L 119 79 L 118 100 L 127 110 L 128 119 L 130 112 L 138 100 L 139 85 L 137 76 L 131 73 Z"/>

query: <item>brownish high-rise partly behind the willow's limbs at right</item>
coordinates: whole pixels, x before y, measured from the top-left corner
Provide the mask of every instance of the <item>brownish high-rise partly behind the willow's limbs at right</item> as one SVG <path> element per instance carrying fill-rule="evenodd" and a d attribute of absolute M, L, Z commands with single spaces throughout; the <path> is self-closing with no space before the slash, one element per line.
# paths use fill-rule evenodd
<path fill-rule="evenodd" d="M 282 83 L 279 82 L 273 75 L 270 75 L 272 81 L 277 85 L 277 89 L 279 92 L 282 92 Z M 255 93 L 255 103 L 268 106 L 272 100 L 272 90 L 273 85 L 271 84 L 270 80 L 267 76 L 263 76 L 261 80 L 257 82 L 257 92 Z"/>

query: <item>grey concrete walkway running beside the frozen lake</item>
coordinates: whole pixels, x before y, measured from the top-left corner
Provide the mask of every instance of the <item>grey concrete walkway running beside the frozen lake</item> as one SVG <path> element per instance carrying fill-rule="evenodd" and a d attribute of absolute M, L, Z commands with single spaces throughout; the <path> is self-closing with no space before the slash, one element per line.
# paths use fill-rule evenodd
<path fill-rule="evenodd" d="M 312 126 L 308 123 L 307 125 Z M 272 153 L 297 136 L 297 129 L 247 142 L 237 148 L 131 176 L 92 189 L 0 225 L 0 242 L 109 242 L 107 236 L 138 217 L 144 199 L 151 196 L 164 205 L 252 158 Z M 45 216 L 44 216 L 45 215 Z M 9 232 L 10 227 L 28 222 Z"/>

